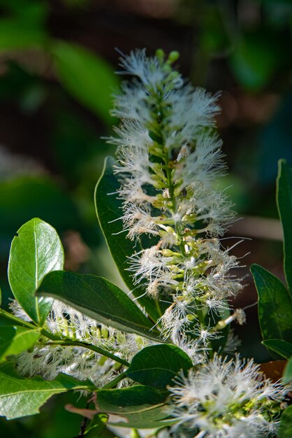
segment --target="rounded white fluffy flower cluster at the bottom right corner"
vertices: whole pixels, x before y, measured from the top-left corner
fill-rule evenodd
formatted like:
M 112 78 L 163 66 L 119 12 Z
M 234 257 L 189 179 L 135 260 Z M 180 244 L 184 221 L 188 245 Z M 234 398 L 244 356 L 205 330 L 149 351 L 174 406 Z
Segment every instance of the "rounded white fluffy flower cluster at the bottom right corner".
M 227 362 L 215 356 L 198 371 L 181 374 L 169 390 L 179 437 L 183 430 L 200 438 L 273 436 L 284 400 L 280 383 L 263 380 L 258 365 L 238 357 Z

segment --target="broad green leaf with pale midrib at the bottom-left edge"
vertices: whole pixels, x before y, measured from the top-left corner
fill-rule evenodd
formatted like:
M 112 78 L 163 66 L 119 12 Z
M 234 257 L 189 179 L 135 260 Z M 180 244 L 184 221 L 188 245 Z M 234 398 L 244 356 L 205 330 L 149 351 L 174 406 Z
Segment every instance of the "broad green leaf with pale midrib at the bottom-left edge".
M 27 379 L 17 374 L 13 364 L 0 366 L 0 416 L 8 420 L 38 414 L 39 408 L 54 394 L 69 390 L 92 390 L 88 381 L 78 381 L 66 374 L 47 381 L 41 376 Z

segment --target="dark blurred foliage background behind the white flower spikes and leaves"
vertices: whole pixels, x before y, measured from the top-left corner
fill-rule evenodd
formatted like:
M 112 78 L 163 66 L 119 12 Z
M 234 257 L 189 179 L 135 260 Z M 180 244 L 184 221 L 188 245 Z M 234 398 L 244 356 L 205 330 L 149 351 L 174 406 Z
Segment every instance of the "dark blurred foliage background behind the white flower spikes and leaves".
M 292 1 L 290 0 L 0 0 L 0 284 L 3 306 L 10 241 L 38 216 L 59 232 L 66 268 L 102 274 L 122 285 L 94 212 L 94 185 L 115 149 L 111 93 L 120 78 L 118 48 L 179 50 L 194 85 L 221 90 L 218 126 L 239 217 L 227 237 L 245 240 L 236 306 L 256 302 L 253 262 L 282 274 L 277 220 L 277 160 L 292 164 Z M 233 245 L 226 240 L 226 246 Z M 259 362 L 256 306 L 238 327 L 241 351 Z M 72 438 L 80 418 L 53 398 L 42 416 L 0 423 L 6 437 Z M 78 395 L 71 396 L 74 403 Z M 3 435 L 2 435 L 3 434 Z

